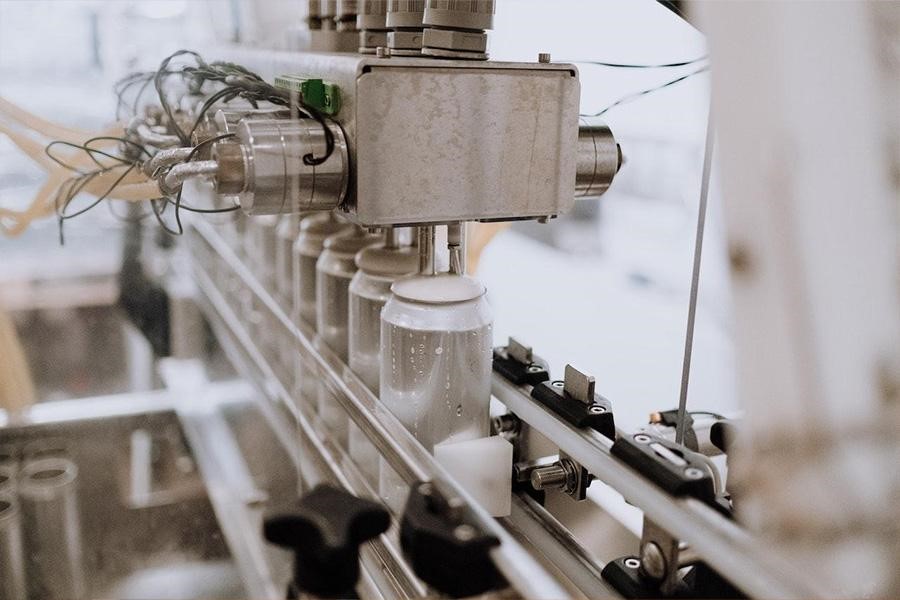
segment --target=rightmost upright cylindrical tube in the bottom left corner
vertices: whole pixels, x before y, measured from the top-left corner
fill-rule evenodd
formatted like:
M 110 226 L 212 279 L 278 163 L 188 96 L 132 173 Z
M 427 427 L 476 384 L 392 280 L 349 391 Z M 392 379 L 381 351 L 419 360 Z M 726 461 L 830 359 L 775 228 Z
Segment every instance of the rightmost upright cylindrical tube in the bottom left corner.
M 32 597 L 85 596 L 77 481 L 78 468 L 65 458 L 26 461 L 22 467 L 18 490 Z

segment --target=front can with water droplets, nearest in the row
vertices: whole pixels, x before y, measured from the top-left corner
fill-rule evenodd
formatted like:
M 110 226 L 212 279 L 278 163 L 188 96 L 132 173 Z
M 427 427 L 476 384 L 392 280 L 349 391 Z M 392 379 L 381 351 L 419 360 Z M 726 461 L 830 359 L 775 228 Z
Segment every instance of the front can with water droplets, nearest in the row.
M 441 274 L 401 279 L 391 291 L 381 313 L 381 401 L 429 452 L 487 436 L 493 321 L 484 286 Z M 397 493 L 384 477 L 380 487 Z

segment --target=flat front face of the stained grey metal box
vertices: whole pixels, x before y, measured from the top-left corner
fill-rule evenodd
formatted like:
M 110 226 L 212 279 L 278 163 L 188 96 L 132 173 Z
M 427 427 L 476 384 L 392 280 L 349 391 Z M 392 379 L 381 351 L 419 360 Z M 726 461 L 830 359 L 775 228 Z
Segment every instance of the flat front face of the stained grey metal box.
M 564 212 L 574 198 L 578 94 L 565 71 L 372 68 L 357 83 L 357 220 Z

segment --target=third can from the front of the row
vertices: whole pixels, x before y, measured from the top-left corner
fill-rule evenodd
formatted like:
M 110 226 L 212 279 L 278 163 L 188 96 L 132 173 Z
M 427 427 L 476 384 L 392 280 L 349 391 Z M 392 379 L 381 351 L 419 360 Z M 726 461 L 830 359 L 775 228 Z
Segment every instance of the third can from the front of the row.
M 332 352 L 347 362 L 350 281 L 356 273 L 356 253 L 377 244 L 380 235 L 357 228 L 325 240 L 325 249 L 316 263 L 316 331 Z M 325 385 L 319 387 L 319 416 L 327 431 L 347 444 L 347 416 Z

